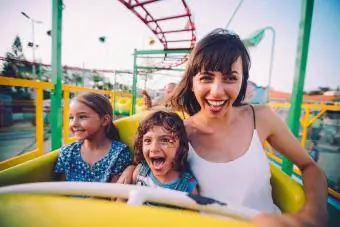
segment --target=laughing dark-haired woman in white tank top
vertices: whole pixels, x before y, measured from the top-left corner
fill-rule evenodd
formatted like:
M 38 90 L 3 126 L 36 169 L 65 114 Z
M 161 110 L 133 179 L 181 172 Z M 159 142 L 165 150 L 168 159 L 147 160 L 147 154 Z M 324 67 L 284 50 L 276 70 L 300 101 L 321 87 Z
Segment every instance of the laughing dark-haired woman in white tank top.
M 278 208 L 271 196 L 267 140 L 299 167 L 306 204 L 294 215 L 262 214 L 260 226 L 324 226 L 325 176 L 267 106 L 243 105 L 250 57 L 236 34 L 217 29 L 198 42 L 168 103 L 187 112 L 188 161 L 203 196 L 267 213 Z

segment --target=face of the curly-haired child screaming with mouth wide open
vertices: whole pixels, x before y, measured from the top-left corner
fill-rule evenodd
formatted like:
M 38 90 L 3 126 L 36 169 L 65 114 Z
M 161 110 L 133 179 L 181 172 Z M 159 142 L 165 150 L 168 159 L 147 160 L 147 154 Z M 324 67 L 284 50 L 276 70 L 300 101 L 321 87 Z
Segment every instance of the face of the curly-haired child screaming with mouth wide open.
M 156 177 L 173 173 L 179 140 L 162 126 L 154 126 L 143 136 L 143 156 Z

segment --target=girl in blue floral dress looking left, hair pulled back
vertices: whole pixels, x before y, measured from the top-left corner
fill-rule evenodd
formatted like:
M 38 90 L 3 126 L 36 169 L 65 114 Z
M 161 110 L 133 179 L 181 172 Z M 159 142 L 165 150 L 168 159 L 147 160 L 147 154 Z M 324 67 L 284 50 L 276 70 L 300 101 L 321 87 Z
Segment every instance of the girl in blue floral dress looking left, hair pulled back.
M 131 164 L 132 154 L 119 141 L 107 98 L 85 93 L 70 104 L 70 130 L 78 142 L 65 145 L 55 172 L 66 181 L 116 182 Z

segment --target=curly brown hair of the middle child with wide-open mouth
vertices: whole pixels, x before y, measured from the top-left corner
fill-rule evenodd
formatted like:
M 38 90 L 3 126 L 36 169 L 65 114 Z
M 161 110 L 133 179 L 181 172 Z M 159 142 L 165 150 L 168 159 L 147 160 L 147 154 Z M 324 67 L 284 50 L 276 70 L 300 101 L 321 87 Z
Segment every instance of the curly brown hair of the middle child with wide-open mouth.
M 179 147 L 174 158 L 173 169 L 179 172 L 186 170 L 188 167 L 187 157 L 189 140 L 185 131 L 184 123 L 176 113 L 165 111 L 157 111 L 150 114 L 139 125 L 134 147 L 136 152 L 136 163 L 145 162 L 143 155 L 143 136 L 155 126 L 163 127 L 167 131 L 173 133 L 176 139 L 179 140 Z

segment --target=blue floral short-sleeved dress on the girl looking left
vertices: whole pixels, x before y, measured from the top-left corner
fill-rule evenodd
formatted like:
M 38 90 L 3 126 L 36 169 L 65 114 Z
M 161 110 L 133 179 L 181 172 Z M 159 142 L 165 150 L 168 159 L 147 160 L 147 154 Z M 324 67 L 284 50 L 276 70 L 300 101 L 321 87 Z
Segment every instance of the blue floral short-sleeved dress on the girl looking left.
M 75 142 L 60 149 L 55 172 L 64 174 L 66 181 L 108 182 L 132 163 L 128 146 L 113 140 L 110 151 L 91 167 L 81 157 L 81 144 Z

